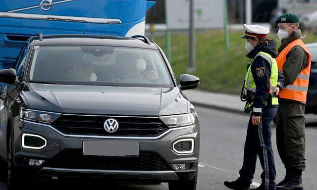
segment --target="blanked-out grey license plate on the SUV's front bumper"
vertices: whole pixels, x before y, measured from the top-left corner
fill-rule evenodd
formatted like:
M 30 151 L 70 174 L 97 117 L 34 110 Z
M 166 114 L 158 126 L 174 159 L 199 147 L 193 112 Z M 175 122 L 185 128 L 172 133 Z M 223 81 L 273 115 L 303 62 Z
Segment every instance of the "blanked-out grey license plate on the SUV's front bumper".
M 139 156 L 137 141 L 84 141 L 83 154 L 95 156 Z

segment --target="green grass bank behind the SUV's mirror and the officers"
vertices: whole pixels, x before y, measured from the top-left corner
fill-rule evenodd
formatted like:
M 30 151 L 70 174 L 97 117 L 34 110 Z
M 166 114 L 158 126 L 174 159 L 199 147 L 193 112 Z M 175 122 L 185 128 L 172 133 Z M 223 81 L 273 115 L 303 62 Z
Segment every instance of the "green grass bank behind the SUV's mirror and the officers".
M 200 89 L 239 94 L 250 62 L 245 55 L 245 40 L 241 39 L 243 31 L 230 31 L 230 50 L 225 50 L 224 35 L 221 30 L 208 30 L 197 34 L 196 71 L 190 73 L 201 79 Z M 317 42 L 317 36 L 303 34 L 305 43 Z M 269 36 L 280 45 L 276 33 Z M 155 41 L 166 52 L 165 36 L 156 37 Z M 174 74 L 177 78 L 187 72 L 188 65 L 188 35 L 172 35 L 172 62 Z

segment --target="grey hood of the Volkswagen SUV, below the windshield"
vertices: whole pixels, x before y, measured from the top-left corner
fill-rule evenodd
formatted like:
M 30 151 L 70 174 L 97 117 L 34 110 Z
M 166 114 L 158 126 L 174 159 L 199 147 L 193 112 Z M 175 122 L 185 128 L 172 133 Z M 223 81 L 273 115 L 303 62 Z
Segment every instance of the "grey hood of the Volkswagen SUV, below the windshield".
M 27 83 L 22 94 L 31 109 L 77 114 L 159 116 L 188 112 L 178 87 L 104 87 Z

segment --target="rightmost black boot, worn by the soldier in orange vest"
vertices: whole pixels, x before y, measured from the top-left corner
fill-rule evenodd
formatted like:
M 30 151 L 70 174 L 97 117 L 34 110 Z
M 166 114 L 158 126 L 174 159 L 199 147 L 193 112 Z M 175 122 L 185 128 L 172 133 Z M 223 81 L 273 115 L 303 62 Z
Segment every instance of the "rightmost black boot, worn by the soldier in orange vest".
M 303 190 L 302 170 L 293 170 L 291 180 L 282 186 L 276 186 L 276 190 Z

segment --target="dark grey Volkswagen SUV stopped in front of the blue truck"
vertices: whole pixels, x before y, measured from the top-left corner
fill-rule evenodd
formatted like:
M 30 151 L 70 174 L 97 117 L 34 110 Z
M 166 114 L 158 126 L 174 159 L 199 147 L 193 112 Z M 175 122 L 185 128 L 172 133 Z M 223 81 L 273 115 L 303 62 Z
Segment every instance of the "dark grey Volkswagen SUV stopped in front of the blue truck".
M 7 188 L 40 176 L 106 177 L 195 190 L 199 121 L 158 45 L 144 36 L 31 37 L 0 70 Z

